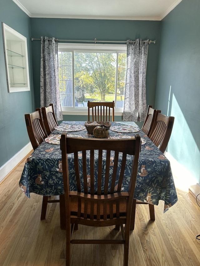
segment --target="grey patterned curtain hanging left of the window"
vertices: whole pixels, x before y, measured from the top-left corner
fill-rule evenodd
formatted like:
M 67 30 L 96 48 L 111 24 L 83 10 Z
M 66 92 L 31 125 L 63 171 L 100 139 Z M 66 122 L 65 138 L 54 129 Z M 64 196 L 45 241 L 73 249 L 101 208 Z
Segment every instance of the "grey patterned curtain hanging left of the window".
M 49 104 L 54 104 L 57 120 L 63 120 L 58 86 L 58 41 L 41 37 L 40 106 Z

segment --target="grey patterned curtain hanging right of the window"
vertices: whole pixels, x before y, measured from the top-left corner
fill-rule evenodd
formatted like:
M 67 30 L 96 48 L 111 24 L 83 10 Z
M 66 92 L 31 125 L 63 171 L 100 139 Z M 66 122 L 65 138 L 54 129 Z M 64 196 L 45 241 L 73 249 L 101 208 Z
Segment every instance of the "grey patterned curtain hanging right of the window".
M 127 74 L 124 98 L 124 121 L 144 121 L 147 113 L 146 68 L 148 41 L 127 41 Z

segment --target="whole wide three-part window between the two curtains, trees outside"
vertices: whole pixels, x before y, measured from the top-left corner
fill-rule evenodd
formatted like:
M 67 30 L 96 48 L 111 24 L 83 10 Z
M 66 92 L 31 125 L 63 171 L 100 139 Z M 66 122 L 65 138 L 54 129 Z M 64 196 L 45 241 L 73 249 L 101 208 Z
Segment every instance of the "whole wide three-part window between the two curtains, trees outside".
M 115 101 L 123 111 L 126 45 L 58 44 L 58 79 L 63 111 L 86 110 L 88 100 Z

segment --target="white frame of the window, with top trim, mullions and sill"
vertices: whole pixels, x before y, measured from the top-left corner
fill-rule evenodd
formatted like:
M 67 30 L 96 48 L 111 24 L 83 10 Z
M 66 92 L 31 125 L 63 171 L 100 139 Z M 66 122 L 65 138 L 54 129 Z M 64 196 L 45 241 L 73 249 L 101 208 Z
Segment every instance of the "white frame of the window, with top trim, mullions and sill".
M 87 43 L 58 43 L 58 52 L 70 52 L 70 51 L 80 51 L 80 52 L 117 52 L 117 53 L 126 53 L 127 45 L 126 44 L 87 44 Z M 117 54 L 118 59 L 118 54 Z M 118 64 L 118 60 L 117 60 Z M 118 67 L 118 65 L 117 65 Z M 118 75 L 118 73 L 116 73 Z M 74 68 L 73 68 L 73 77 L 74 77 Z M 116 78 L 117 80 L 117 78 Z M 115 85 L 117 86 L 117 84 Z M 74 88 L 74 80 L 73 80 Z M 74 89 L 73 89 L 74 94 Z M 73 97 L 74 98 L 74 97 Z M 117 95 L 115 95 L 117 99 Z M 115 99 L 115 103 L 116 103 Z M 62 107 L 63 114 L 74 114 L 74 115 L 88 115 L 87 107 Z M 115 108 L 115 115 L 123 115 L 123 108 Z

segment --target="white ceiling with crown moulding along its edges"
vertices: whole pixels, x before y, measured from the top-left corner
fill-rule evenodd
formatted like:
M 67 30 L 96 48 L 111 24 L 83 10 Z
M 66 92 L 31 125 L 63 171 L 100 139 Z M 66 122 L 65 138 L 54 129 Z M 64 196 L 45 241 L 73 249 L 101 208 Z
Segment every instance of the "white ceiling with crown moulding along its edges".
M 12 0 L 29 17 L 162 20 L 182 0 Z

